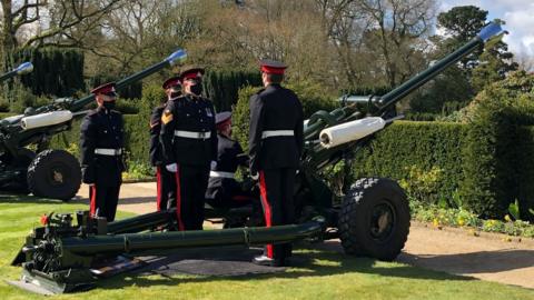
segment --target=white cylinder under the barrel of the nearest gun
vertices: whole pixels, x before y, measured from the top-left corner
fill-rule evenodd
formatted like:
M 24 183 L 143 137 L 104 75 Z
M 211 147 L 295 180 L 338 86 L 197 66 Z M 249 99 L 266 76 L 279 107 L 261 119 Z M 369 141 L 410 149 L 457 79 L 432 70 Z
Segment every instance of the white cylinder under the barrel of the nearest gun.
M 359 140 L 383 129 L 385 126 L 386 121 L 380 117 L 368 117 L 329 127 L 320 131 L 320 144 L 325 148 L 332 148 L 346 142 Z

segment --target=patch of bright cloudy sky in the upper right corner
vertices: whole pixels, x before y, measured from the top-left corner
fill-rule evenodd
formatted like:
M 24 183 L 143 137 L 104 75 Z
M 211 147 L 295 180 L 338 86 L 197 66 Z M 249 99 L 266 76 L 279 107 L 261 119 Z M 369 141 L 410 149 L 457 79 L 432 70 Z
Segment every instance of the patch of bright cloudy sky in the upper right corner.
M 487 20 L 506 22 L 510 34 L 503 39 L 508 50 L 520 58 L 534 59 L 534 0 L 442 0 L 439 11 L 457 6 L 476 6 L 488 11 Z

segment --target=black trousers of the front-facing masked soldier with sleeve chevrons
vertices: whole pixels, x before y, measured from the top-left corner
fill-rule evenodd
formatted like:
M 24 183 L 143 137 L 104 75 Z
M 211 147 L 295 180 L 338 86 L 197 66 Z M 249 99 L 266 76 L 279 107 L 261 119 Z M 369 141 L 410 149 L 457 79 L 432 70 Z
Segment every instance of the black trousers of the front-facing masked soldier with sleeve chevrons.
M 179 230 L 202 230 L 209 167 L 178 164 L 176 217 Z

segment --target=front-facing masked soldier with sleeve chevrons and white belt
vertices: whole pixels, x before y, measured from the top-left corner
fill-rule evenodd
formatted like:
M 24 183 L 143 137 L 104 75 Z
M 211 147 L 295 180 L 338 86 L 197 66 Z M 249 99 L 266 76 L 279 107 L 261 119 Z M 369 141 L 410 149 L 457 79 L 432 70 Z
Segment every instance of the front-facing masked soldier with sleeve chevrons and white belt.
M 201 230 L 210 167 L 217 162 L 215 109 L 201 97 L 204 69 L 181 72 L 184 96 L 169 101 L 161 116 L 160 141 L 168 171 L 177 183 L 179 230 Z

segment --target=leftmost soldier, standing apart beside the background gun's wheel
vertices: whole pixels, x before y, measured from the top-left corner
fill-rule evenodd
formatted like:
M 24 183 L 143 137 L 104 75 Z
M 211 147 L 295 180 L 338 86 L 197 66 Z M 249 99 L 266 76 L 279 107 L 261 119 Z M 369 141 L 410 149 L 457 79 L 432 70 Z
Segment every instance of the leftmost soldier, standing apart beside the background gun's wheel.
M 91 110 L 81 123 L 82 180 L 90 186 L 91 216 L 115 220 L 119 200 L 122 161 L 122 116 L 115 111 L 115 83 L 95 88 L 98 108 Z

